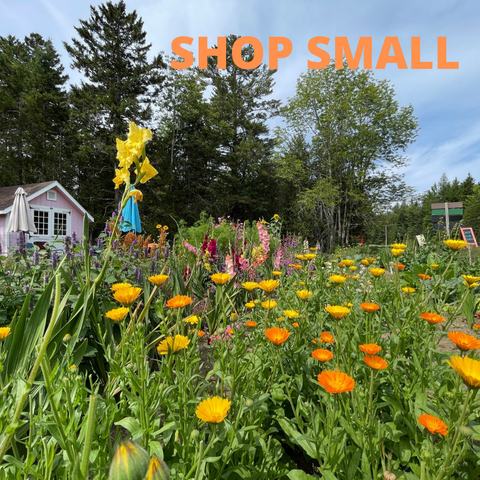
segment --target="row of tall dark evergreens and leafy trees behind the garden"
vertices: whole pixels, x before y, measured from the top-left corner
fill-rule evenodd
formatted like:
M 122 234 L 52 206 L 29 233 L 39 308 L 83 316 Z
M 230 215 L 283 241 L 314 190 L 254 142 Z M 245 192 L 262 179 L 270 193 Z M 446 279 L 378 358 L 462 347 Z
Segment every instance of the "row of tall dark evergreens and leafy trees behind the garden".
M 371 71 L 310 70 L 282 104 L 276 70 L 235 65 L 235 35 L 226 69 L 209 57 L 207 69 L 174 70 L 152 56 L 142 19 L 123 1 L 91 6 L 75 30 L 64 47 L 82 75 L 77 85 L 50 40 L 0 37 L 0 186 L 58 180 L 98 232 L 118 203 L 115 139 L 134 121 L 152 130 L 147 153 L 160 172 L 143 187 L 150 233 L 202 212 L 279 214 L 284 231 L 328 250 L 374 231 L 382 207 L 410 208 L 401 202 L 412 191 L 396 172 L 418 121 Z M 242 57 L 253 58 L 251 46 Z M 283 126 L 272 129 L 277 117 Z

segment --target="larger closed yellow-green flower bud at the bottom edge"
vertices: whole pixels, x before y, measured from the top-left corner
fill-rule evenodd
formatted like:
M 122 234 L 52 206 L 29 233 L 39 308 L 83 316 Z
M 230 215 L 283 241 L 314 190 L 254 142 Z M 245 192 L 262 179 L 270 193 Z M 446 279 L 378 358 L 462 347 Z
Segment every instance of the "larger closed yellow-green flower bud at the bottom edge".
M 131 440 L 117 446 L 108 480 L 143 480 L 149 468 L 148 453 Z

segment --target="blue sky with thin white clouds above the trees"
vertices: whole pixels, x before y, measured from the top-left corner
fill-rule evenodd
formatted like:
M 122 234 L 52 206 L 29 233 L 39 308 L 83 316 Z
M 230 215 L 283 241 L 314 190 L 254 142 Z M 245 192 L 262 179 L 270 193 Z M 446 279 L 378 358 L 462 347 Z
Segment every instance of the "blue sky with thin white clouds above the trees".
M 80 79 L 69 68 L 62 41 L 75 36 L 79 19 L 88 19 L 95 0 L 0 0 L 0 35 L 23 38 L 38 32 L 51 38 L 71 81 Z M 298 75 L 307 69 L 308 40 L 331 38 L 326 49 L 333 56 L 333 38 L 347 36 L 356 46 L 360 36 L 373 38 L 373 63 L 386 36 L 397 36 L 410 67 L 411 37 L 421 38 L 422 61 L 433 61 L 433 70 L 398 70 L 388 65 L 375 70 L 387 78 L 400 105 L 412 104 L 420 133 L 408 149 L 410 164 L 405 179 L 418 192 L 428 189 L 442 173 L 450 179 L 470 172 L 480 180 L 480 2 L 477 0 L 126 0 L 128 10 L 143 18 L 152 54 L 171 53 L 177 36 L 217 36 L 230 33 L 260 39 L 265 55 L 268 37 L 285 36 L 293 52 L 281 59 L 274 95 L 285 101 L 295 91 Z M 458 61 L 458 70 L 436 69 L 437 37 L 447 37 L 447 59 Z M 361 66 L 363 62 L 361 63 Z

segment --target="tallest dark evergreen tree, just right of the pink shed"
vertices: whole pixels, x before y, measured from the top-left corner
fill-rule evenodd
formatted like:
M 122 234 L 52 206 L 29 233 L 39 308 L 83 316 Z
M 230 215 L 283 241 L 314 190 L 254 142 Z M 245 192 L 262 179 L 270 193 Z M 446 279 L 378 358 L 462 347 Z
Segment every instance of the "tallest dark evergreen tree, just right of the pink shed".
M 78 38 L 65 48 L 72 68 L 85 81 L 71 92 L 71 131 L 78 132 L 77 196 L 102 221 L 115 208 L 115 139 L 124 138 L 128 122 L 147 125 L 152 101 L 163 81 L 160 55 L 150 62 L 143 21 L 125 2 L 90 7 L 90 18 L 75 27 Z M 155 160 L 152 160 L 155 164 Z M 115 194 L 117 196 L 115 197 Z

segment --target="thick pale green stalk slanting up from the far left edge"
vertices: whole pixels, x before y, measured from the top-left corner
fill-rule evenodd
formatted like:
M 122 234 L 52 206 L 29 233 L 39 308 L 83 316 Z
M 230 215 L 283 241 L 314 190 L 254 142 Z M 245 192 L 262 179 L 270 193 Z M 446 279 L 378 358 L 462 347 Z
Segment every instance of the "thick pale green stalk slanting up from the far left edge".
M 5 453 L 10 445 L 13 435 L 15 431 L 19 427 L 20 417 L 22 415 L 23 407 L 25 406 L 25 402 L 27 401 L 28 394 L 32 389 L 33 382 L 38 373 L 38 369 L 40 368 L 40 364 L 42 362 L 43 357 L 47 351 L 48 343 L 50 342 L 50 338 L 53 333 L 53 329 L 55 327 L 55 323 L 57 321 L 58 316 L 58 306 L 60 305 L 60 274 L 57 273 L 55 275 L 55 302 L 53 304 L 53 312 L 52 316 L 50 317 L 50 323 L 48 325 L 47 331 L 45 332 L 45 337 L 43 338 L 43 343 L 38 351 L 37 359 L 32 367 L 32 371 L 30 372 L 30 376 L 28 377 L 27 383 L 25 384 L 24 391 L 22 396 L 20 397 L 17 407 L 15 409 L 15 413 L 13 415 L 12 421 L 10 422 L 9 426 L 5 429 L 8 432 L 3 439 L 2 444 L 0 445 L 0 462 L 3 460 Z

